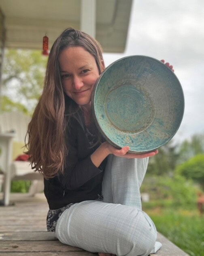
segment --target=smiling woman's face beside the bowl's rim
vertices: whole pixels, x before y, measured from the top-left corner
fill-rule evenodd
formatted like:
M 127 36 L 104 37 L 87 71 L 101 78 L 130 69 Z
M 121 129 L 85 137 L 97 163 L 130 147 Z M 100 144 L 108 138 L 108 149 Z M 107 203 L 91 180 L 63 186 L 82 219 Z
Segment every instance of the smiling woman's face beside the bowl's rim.
M 99 77 L 94 56 L 81 46 L 70 46 L 60 53 L 59 63 L 66 95 L 79 105 L 89 104 L 94 84 Z

